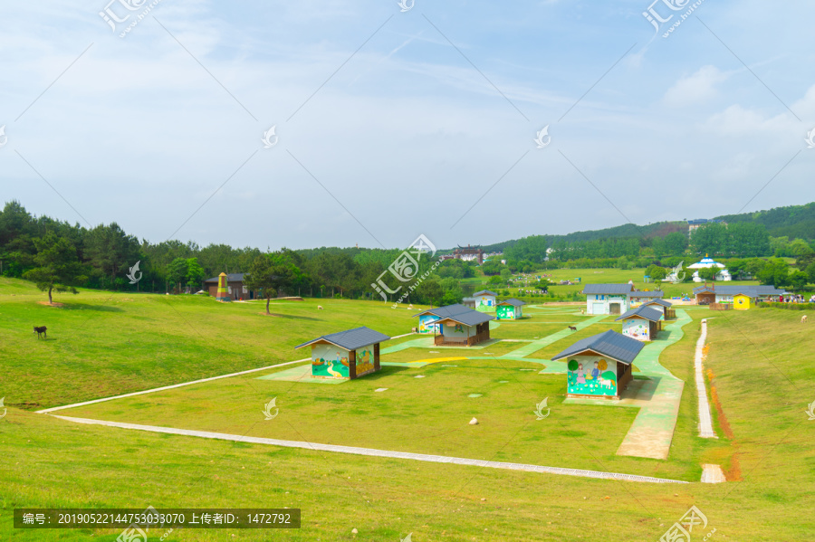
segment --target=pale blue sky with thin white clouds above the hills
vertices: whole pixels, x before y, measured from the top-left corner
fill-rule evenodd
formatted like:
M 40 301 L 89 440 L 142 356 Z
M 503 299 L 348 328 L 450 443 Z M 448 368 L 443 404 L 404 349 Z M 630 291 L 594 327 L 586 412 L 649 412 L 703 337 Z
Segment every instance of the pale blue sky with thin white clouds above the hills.
M 4 201 L 275 249 L 815 200 L 809 2 L 109 1 L 0 3 Z

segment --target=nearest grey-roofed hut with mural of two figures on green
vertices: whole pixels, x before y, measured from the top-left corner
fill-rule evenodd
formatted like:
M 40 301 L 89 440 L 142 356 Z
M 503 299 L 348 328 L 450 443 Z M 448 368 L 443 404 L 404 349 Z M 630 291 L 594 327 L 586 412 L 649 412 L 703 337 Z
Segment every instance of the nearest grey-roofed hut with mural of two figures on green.
M 566 360 L 567 397 L 619 399 L 634 377 L 634 359 L 643 347 L 609 329 L 577 341 L 551 360 Z

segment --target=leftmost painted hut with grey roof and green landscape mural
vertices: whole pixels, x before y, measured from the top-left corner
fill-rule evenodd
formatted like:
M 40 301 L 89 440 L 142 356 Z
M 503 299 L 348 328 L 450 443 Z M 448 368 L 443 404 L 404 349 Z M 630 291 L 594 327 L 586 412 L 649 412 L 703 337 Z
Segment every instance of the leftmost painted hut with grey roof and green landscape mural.
M 323 335 L 294 347 L 312 347 L 312 376 L 359 378 L 379 371 L 379 343 L 389 337 L 370 328 Z

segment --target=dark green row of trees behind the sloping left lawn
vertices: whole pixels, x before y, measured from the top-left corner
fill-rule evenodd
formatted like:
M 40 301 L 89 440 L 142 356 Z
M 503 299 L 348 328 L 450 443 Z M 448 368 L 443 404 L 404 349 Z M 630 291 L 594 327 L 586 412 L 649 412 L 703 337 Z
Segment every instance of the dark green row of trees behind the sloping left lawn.
M 402 253 L 398 249 L 326 247 L 262 252 L 226 244 L 156 243 L 139 241 L 117 223 L 85 228 L 48 216 L 36 217 L 16 201 L 6 203 L 0 212 L 0 275 L 34 281 L 49 293 L 49 300 L 53 291 L 75 292 L 76 288 L 194 293 L 206 279 L 227 272 L 249 273 L 246 280 L 263 282 L 259 289 L 275 296 L 382 300 L 371 284 L 383 281 L 388 290 L 397 292 L 388 294 L 391 301 L 408 290 L 408 284 L 388 272 Z M 418 276 L 431 262 L 426 256 L 417 264 Z M 463 294 L 457 280 L 474 274 L 463 269 L 461 262 L 445 262 L 415 285 L 406 299 L 435 304 L 460 301 Z

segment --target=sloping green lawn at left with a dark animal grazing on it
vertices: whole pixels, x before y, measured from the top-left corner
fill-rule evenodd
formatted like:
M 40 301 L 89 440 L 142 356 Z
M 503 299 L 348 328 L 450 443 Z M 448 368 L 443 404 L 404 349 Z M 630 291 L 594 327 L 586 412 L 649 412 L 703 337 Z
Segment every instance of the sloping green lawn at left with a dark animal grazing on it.
M 309 357 L 294 347 L 367 325 L 391 336 L 417 325 L 408 309 L 346 300 L 217 303 L 209 297 L 82 291 L 55 296 L 0 278 L 5 404 L 28 409 L 129 393 Z M 317 305 L 324 310 L 318 310 Z M 38 340 L 34 326 L 47 326 Z

